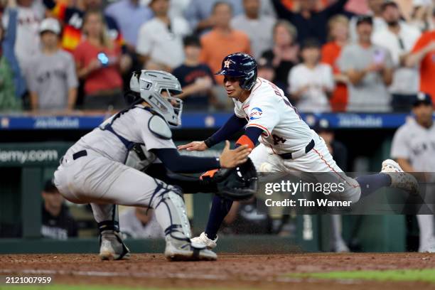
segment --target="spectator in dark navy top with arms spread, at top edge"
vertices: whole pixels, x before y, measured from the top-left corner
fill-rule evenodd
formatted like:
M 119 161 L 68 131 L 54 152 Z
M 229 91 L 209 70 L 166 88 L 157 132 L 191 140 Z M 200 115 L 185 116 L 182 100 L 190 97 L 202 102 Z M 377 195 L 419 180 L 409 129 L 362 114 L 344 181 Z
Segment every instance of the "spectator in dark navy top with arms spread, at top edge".
M 326 27 L 329 18 L 335 14 L 343 13 L 348 0 L 338 0 L 321 11 L 316 10 L 316 0 L 300 1 L 300 11 L 293 12 L 284 6 L 285 0 L 272 0 L 276 14 L 296 26 L 298 42 L 302 43 L 306 38 L 317 38 L 321 43 L 326 43 Z

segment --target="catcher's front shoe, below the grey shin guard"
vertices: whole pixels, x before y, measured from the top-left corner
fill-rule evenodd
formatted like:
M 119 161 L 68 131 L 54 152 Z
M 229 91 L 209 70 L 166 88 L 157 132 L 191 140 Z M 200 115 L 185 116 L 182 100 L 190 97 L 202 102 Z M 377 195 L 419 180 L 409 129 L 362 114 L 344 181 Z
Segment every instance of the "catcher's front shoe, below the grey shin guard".
M 204 245 L 166 236 L 165 257 L 169 261 L 215 261 L 218 255 Z

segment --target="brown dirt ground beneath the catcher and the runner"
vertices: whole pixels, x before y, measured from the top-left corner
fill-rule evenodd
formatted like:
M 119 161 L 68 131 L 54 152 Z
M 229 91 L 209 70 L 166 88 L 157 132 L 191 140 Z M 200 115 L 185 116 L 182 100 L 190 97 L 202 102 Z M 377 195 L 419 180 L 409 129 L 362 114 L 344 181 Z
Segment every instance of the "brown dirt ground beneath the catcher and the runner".
M 0 261 L 0 275 L 50 275 L 55 284 L 185 289 L 435 289 L 435 284 L 425 282 L 326 281 L 287 275 L 435 269 L 435 254 L 220 254 L 217 262 L 167 262 L 161 254 L 133 254 L 129 261 L 106 262 L 93 254 L 11 254 L 0 255 Z

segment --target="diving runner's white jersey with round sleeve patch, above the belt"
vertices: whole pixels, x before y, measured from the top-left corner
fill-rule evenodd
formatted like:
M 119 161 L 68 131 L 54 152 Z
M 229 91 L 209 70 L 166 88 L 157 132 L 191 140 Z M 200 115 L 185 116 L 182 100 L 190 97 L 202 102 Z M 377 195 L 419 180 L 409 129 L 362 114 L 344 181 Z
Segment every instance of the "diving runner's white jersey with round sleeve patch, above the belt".
M 247 127 L 263 129 L 259 142 L 269 146 L 275 154 L 303 149 L 316 136 L 284 92 L 262 77 L 257 78 L 245 102 L 232 100 L 237 117 L 247 119 Z

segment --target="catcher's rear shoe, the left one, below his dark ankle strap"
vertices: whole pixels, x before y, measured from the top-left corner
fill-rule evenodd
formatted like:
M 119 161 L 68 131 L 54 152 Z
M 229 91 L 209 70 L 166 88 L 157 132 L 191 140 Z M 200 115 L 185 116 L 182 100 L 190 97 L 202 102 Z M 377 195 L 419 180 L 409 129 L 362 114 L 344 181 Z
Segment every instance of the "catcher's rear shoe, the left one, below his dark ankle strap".
M 106 230 L 100 235 L 99 256 L 102 260 L 129 259 L 130 250 L 124 245 L 118 232 Z

